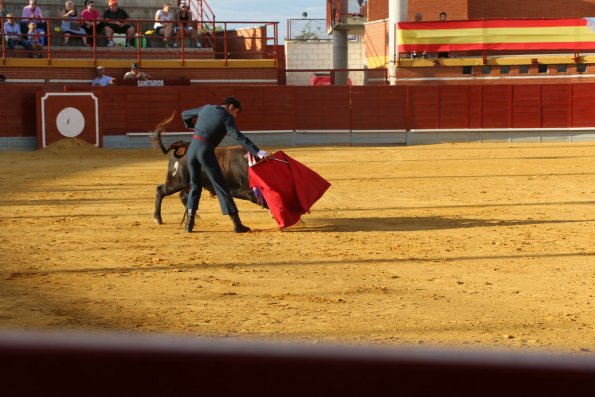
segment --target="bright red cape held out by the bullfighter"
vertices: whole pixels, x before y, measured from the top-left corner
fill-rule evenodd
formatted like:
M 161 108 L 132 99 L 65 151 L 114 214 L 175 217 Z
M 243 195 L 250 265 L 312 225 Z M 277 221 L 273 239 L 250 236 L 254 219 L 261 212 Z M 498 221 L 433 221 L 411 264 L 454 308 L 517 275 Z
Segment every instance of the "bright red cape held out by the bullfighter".
M 275 160 L 260 161 L 248 169 L 250 187 L 259 188 L 279 229 L 293 226 L 310 212 L 331 184 L 283 151 Z

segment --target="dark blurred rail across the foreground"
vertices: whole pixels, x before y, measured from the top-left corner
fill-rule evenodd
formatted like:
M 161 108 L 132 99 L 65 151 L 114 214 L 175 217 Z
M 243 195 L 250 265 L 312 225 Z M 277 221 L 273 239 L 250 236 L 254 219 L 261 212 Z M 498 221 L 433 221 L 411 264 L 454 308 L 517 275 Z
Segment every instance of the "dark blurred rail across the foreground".
M 592 395 L 591 357 L 250 343 L 173 336 L 0 334 L 3 396 Z

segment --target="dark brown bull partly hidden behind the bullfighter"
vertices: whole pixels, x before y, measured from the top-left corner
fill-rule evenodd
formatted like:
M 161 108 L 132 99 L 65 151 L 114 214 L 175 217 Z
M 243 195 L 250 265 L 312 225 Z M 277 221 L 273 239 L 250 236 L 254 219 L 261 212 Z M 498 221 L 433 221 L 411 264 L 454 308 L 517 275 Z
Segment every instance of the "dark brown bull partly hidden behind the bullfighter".
M 180 200 L 186 206 L 186 199 L 190 192 L 190 173 L 188 172 L 188 159 L 185 156 L 190 143 L 177 141 L 166 148 L 161 140 L 161 132 L 164 126 L 171 120 L 172 118 L 170 117 L 168 120 L 159 124 L 151 136 L 153 144 L 158 145 L 163 154 L 167 154 L 173 150 L 173 153 L 169 157 L 165 183 L 157 185 L 156 189 L 155 213 L 153 217 L 158 224 L 163 223 L 161 219 L 161 202 L 163 198 L 180 192 Z M 246 158 L 246 153 L 246 150 L 241 146 L 218 147 L 215 149 L 215 156 L 217 156 L 217 161 L 223 171 L 229 193 L 234 198 L 248 200 L 260 205 L 248 184 L 248 159 Z M 200 183 L 211 196 L 215 196 L 213 185 L 204 170 L 200 175 Z M 267 208 L 266 203 L 264 203 L 264 207 Z

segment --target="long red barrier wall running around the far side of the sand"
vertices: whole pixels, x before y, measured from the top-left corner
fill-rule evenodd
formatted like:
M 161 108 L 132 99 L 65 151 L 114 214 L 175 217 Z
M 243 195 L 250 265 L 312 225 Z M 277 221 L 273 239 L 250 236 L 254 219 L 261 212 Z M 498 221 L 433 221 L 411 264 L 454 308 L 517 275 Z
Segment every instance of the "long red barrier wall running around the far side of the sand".
M 0 137 L 36 136 L 35 93 L 4 85 Z M 70 88 L 90 91 L 89 88 Z M 143 132 L 172 112 L 242 100 L 242 130 L 405 130 L 595 127 L 595 84 L 470 86 L 199 86 L 97 88 L 103 135 Z M 167 128 L 184 131 L 176 117 Z

